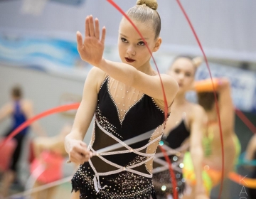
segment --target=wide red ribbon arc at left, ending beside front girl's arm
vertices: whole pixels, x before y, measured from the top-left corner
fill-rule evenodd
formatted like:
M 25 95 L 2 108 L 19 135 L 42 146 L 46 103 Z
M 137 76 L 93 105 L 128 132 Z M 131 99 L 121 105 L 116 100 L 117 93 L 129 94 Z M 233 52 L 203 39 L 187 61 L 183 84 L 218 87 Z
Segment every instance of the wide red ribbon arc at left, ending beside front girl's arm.
M 16 136 L 16 134 L 18 134 L 20 131 L 22 131 L 23 129 L 28 127 L 30 124 L 32 124 L 36 120 L 41 119 L 42 117 L 46 117 L 49 114 L 65 112 L 65 111 L 72 110 L 72 109 L 78 109 L 78 107 L 79 107 L 79 103 L 66 104 L 66 105 L 63 105 L 60 107 L 55 107 L 53 109 L 49 109 L 46 112 L 42 112 L 41 114 L 36 115 L 35 117 L 31 117 L 31 119 L 28 119 L 28 120 L 26 120 L 26 122 L 23 122 L 23 124 L 18 126 L 16 129 L 14 129 L 14 131 L 11 132 L 11 134 L 9 136 L 7 136 L 5 141 L 3 141 L 3 143 L 0 145 L 0 150 L 4 146 L 4 144 L 6 144 L 7 141 L 11 140 L 14 136 Z

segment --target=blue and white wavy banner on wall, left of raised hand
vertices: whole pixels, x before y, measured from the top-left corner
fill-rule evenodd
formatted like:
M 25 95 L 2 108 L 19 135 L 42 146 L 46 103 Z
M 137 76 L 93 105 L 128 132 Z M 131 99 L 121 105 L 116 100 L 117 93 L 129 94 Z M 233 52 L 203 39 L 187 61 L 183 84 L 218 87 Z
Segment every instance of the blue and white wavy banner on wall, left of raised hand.
M 91 68 L 80 59 L 75 41 L 48 37 L 0 36 L 0 63 L 82 80 Z

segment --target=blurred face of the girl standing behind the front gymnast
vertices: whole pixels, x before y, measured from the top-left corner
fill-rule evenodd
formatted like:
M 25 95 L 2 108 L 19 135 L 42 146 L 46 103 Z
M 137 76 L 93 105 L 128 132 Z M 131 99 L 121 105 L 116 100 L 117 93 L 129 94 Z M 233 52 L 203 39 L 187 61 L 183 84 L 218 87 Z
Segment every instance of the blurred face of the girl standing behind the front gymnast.
M 195 77 L 195 67 L 188 58 L 178 58 L 174 61 L 173 65 L 171 65 L 169 75 L 174 77 L 174 79 L 178 82 L 178 92 L 186 92 L 190 89 L 193 83 Z

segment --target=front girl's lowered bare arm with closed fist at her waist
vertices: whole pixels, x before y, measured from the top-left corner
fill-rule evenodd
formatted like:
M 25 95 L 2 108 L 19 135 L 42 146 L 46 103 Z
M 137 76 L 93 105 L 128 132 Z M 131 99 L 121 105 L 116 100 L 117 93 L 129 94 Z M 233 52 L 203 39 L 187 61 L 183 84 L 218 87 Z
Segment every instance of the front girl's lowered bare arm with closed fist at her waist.
M 65 150 L 68 152 L 70 161 L 82 164 L 88 161 L 91 154 L 83 142 L 85 134 L 97 106 L 97 92 L 105 77 L 105 73 L 97 68 L 92 68 L 85 80 L 85 87 L 82 95 L 82 102 L 75 115 L 73 128 L 65 137 Z

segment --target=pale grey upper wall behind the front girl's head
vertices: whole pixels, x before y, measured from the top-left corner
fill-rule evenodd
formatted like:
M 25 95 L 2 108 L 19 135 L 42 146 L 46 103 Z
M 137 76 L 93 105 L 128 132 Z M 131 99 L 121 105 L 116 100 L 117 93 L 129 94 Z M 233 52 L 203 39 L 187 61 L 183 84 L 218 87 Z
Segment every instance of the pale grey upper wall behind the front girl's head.
M 0 31 L 38 33 L 75 40 L 76 31 L 84 31 L 85 17 L 92 14 L 107 28 L 107 43 L 117 43 L 121 14 L 105 0 L 47 1 L 41 14 L 24 14 L 25 1 L 0 1 Z M 44 1 L 44 0 L 38 0 Z M 63 3 L 61 3 L 63 2 Z M 124 11 L 135 0 L 115 0 Z M 162 20 L 162 50 L 171 53 L 201 55 L 195 38 L 175 0 L 159 0 Z M 65 4 L 64 4 L 65 3 Z M 206 54 L 212 58 L 256 60 L 256 1 L 183 0 Z

